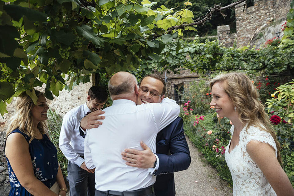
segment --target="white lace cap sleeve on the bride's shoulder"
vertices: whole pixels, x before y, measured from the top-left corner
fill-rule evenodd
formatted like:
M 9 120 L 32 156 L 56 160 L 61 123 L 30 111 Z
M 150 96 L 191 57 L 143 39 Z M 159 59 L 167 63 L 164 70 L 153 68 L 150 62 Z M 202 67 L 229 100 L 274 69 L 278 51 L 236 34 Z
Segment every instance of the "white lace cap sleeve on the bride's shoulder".
M 275 149 L 275 153 L 276 153 L 276 157 L 277 157 L 276 142 L 274 141 L 272 135 L 269 132 L 266 132 L 264 130 L 259 130 L 256 127 L 254 127 L 254 128 L 250 127 L 248 129 L 248 136 L 246 139 L 246 144 L 245 144 L 246 147 L 245 148 L 247 148 L 247 144 L 251 140 L 256 140 L 256 141 L 270 145 L 271 147 L 273 147 L 273 149 Z M 247 151 L 247 149 L 246 149 L 246 151 Z

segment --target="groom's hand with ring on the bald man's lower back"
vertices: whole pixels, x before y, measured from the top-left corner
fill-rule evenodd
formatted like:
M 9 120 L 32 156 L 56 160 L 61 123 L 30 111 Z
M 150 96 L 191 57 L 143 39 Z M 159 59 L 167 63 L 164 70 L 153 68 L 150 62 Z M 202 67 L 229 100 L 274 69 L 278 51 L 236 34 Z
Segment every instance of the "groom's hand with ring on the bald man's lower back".
M 137 168 L 153 168 L 156 156 L 153 154 L 151 149 L 141 141 L 141 146 L 144 150 L 136 149 L 125 149 L 121 153 L 123 160 L 126 160 L 126 164 Z

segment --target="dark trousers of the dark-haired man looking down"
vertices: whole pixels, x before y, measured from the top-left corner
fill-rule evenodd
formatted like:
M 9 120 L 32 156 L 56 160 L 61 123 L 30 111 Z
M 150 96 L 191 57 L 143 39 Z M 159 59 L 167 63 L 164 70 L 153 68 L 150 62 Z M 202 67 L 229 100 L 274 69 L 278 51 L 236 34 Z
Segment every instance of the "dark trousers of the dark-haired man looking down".
M 70 183 L 70 196 L 95 195 L 95 174 L 89 173 L 70 161 L 68 162 L 67 173 Z

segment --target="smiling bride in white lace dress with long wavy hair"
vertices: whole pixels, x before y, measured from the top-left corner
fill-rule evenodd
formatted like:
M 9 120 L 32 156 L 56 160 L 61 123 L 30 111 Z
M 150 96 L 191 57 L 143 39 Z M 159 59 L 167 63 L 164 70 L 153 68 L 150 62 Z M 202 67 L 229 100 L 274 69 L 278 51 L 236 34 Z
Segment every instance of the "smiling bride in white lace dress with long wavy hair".
M 233 123 L 232 138 L 225 151 L 233 195 L 294 195 L 280 165 L 277 136 L 249 77 L 242 73 L 223 74 L 211 81 L 210 88 L 210 105 L 220 117 Z

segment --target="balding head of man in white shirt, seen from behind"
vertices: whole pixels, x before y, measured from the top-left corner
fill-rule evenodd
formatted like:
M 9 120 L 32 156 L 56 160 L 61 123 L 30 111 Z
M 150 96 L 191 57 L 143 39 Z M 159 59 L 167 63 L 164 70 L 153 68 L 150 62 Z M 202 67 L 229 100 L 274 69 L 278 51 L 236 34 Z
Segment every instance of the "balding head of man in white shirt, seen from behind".
M 128 96 L 134 93 L 137 79 L 133 74 L 120 71 L 114 74 L 108 82 L 108 90 L 111 98 L 113 96 Z

